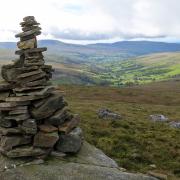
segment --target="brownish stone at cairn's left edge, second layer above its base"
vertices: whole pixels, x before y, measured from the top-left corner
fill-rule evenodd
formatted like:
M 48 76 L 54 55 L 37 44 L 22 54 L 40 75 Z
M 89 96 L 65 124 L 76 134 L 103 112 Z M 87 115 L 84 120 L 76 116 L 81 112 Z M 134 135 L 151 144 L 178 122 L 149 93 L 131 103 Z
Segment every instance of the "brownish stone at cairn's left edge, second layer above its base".
M 15 146 L 29 144 L 31 141 L 30 136 L 2 136 L 1 148 L 4 151 L 9 151 Z

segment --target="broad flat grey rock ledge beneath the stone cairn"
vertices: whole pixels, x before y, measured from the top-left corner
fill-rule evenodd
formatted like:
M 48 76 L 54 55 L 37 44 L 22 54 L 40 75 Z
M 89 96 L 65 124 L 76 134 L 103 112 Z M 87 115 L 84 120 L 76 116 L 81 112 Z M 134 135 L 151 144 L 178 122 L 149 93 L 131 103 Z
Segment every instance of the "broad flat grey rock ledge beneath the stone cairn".
M 121 172 L 116 162 L 101 150 L 84 142 L 75 156 L 49 157 L 43 164 L 0 156 L 1 180 L 156 180 Z

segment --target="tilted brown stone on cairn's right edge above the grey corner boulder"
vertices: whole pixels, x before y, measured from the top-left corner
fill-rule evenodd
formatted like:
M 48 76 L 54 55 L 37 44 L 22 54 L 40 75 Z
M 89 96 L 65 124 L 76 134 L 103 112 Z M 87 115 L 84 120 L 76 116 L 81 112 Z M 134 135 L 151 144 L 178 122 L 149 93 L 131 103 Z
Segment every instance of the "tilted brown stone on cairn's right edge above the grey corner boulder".
M 70 121 L 65 122 L 59 126 L 59 132 L 68 134 L 73 128 L 75 128 L 80 122 L 78 115 L 75 115 Z

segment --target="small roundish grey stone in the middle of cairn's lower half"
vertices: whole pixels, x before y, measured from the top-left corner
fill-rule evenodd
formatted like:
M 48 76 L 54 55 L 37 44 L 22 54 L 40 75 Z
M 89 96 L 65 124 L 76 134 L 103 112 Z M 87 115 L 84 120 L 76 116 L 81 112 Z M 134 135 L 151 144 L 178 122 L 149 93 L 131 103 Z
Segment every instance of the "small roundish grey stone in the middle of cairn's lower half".
M 35 119 L 27 119 L 23 121 L 22 125 L 20 126 L 22 131 L 26 134 L 36 134 L 37 133 L 37 123 Z

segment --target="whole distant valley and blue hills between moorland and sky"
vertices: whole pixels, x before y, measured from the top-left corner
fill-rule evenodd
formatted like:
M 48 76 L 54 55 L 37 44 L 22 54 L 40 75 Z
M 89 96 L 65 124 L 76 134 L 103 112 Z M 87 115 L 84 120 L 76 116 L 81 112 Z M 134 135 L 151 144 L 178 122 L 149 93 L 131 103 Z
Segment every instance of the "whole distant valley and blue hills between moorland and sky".
M 180 76 L 178 43 L 123 41 L 75 45 L 41 40 L 39 46 L 48 47 L 45 58 L 56 69 L 56 83 L 124 86 Z M 17 58 L 15 48 L 14 42 L 0 43 L 0 64 Z

